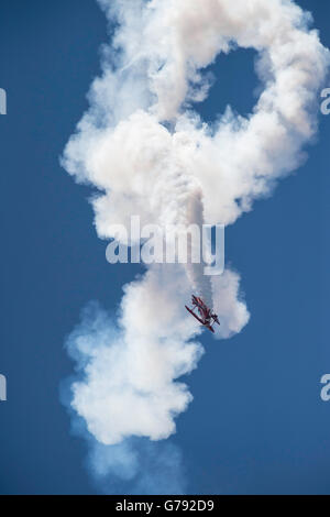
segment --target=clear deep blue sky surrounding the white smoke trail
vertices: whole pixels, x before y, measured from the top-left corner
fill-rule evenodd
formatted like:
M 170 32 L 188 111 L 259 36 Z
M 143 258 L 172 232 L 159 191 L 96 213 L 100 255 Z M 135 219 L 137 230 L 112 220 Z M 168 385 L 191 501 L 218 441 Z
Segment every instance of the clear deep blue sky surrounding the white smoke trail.
M 330 47 L 330 6 L 300 0 Z M 2 2 L 0 493 L 94 494 L 86 443 L 70 433 L 59 383 L 73 372 L 63 348 L 90 299 L 116 307 L 139 271 L 110 266 L 92 226 L 91 190 L 59 155 L 87 108 L 107 22 L 94 0 Z M 255 102 L 254 54 L 213 66 L 206 119 Z M 330 79 L 329 79 L 330 80 Z M 330 84 L 329 84 L 330 86 Z M 216 342 L 186 381 L 195 397 L 172 439 L 190 493 L 330 493 L 328 241 L 330 117 L 320 117 L 308 162 L 227 229 L 227 261 L 242 276 L 248 327 Z M 123 485 L 124 492 L 124 485 Z

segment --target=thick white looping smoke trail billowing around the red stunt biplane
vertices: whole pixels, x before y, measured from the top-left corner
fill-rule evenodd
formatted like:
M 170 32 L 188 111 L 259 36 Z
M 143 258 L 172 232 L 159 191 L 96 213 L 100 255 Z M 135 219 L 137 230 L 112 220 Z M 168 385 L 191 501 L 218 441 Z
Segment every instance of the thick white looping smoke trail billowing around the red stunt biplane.
M 101 193 L 92 201 L 100 238 L 113 238 L 113 224 L 129 228 L 132 215 L 162 228 L 231 224 L 299 166 L 317 130 L 316 98 L 329 56 L 308 28 L 310 16 L 293 1 L 99 3 L 117 29 L 63 163 Z M 238 46 L 257 51 L 264 89 L 248 118 L 228 108 L 209 125 L 193 109 L 210 87 L 204 69 Z M 155 442 L 175 432 L 175 417 L 193 398 L 178 380 L 202 354 L 200 329 L 184 309 L 193 288 L 212 299 L 219 338 L 246 324 L 239 275 L 227 270 L 210 282 L 201 272 L 153 265 L 124 287 L 116 318 L 94 306 L 69 337 L 80 373 L 70 405 L 94 437 L 95 472 L 131 480 L 140 464 L 132 440 Z M 151 490 L 147 483 L 143 490 Z

